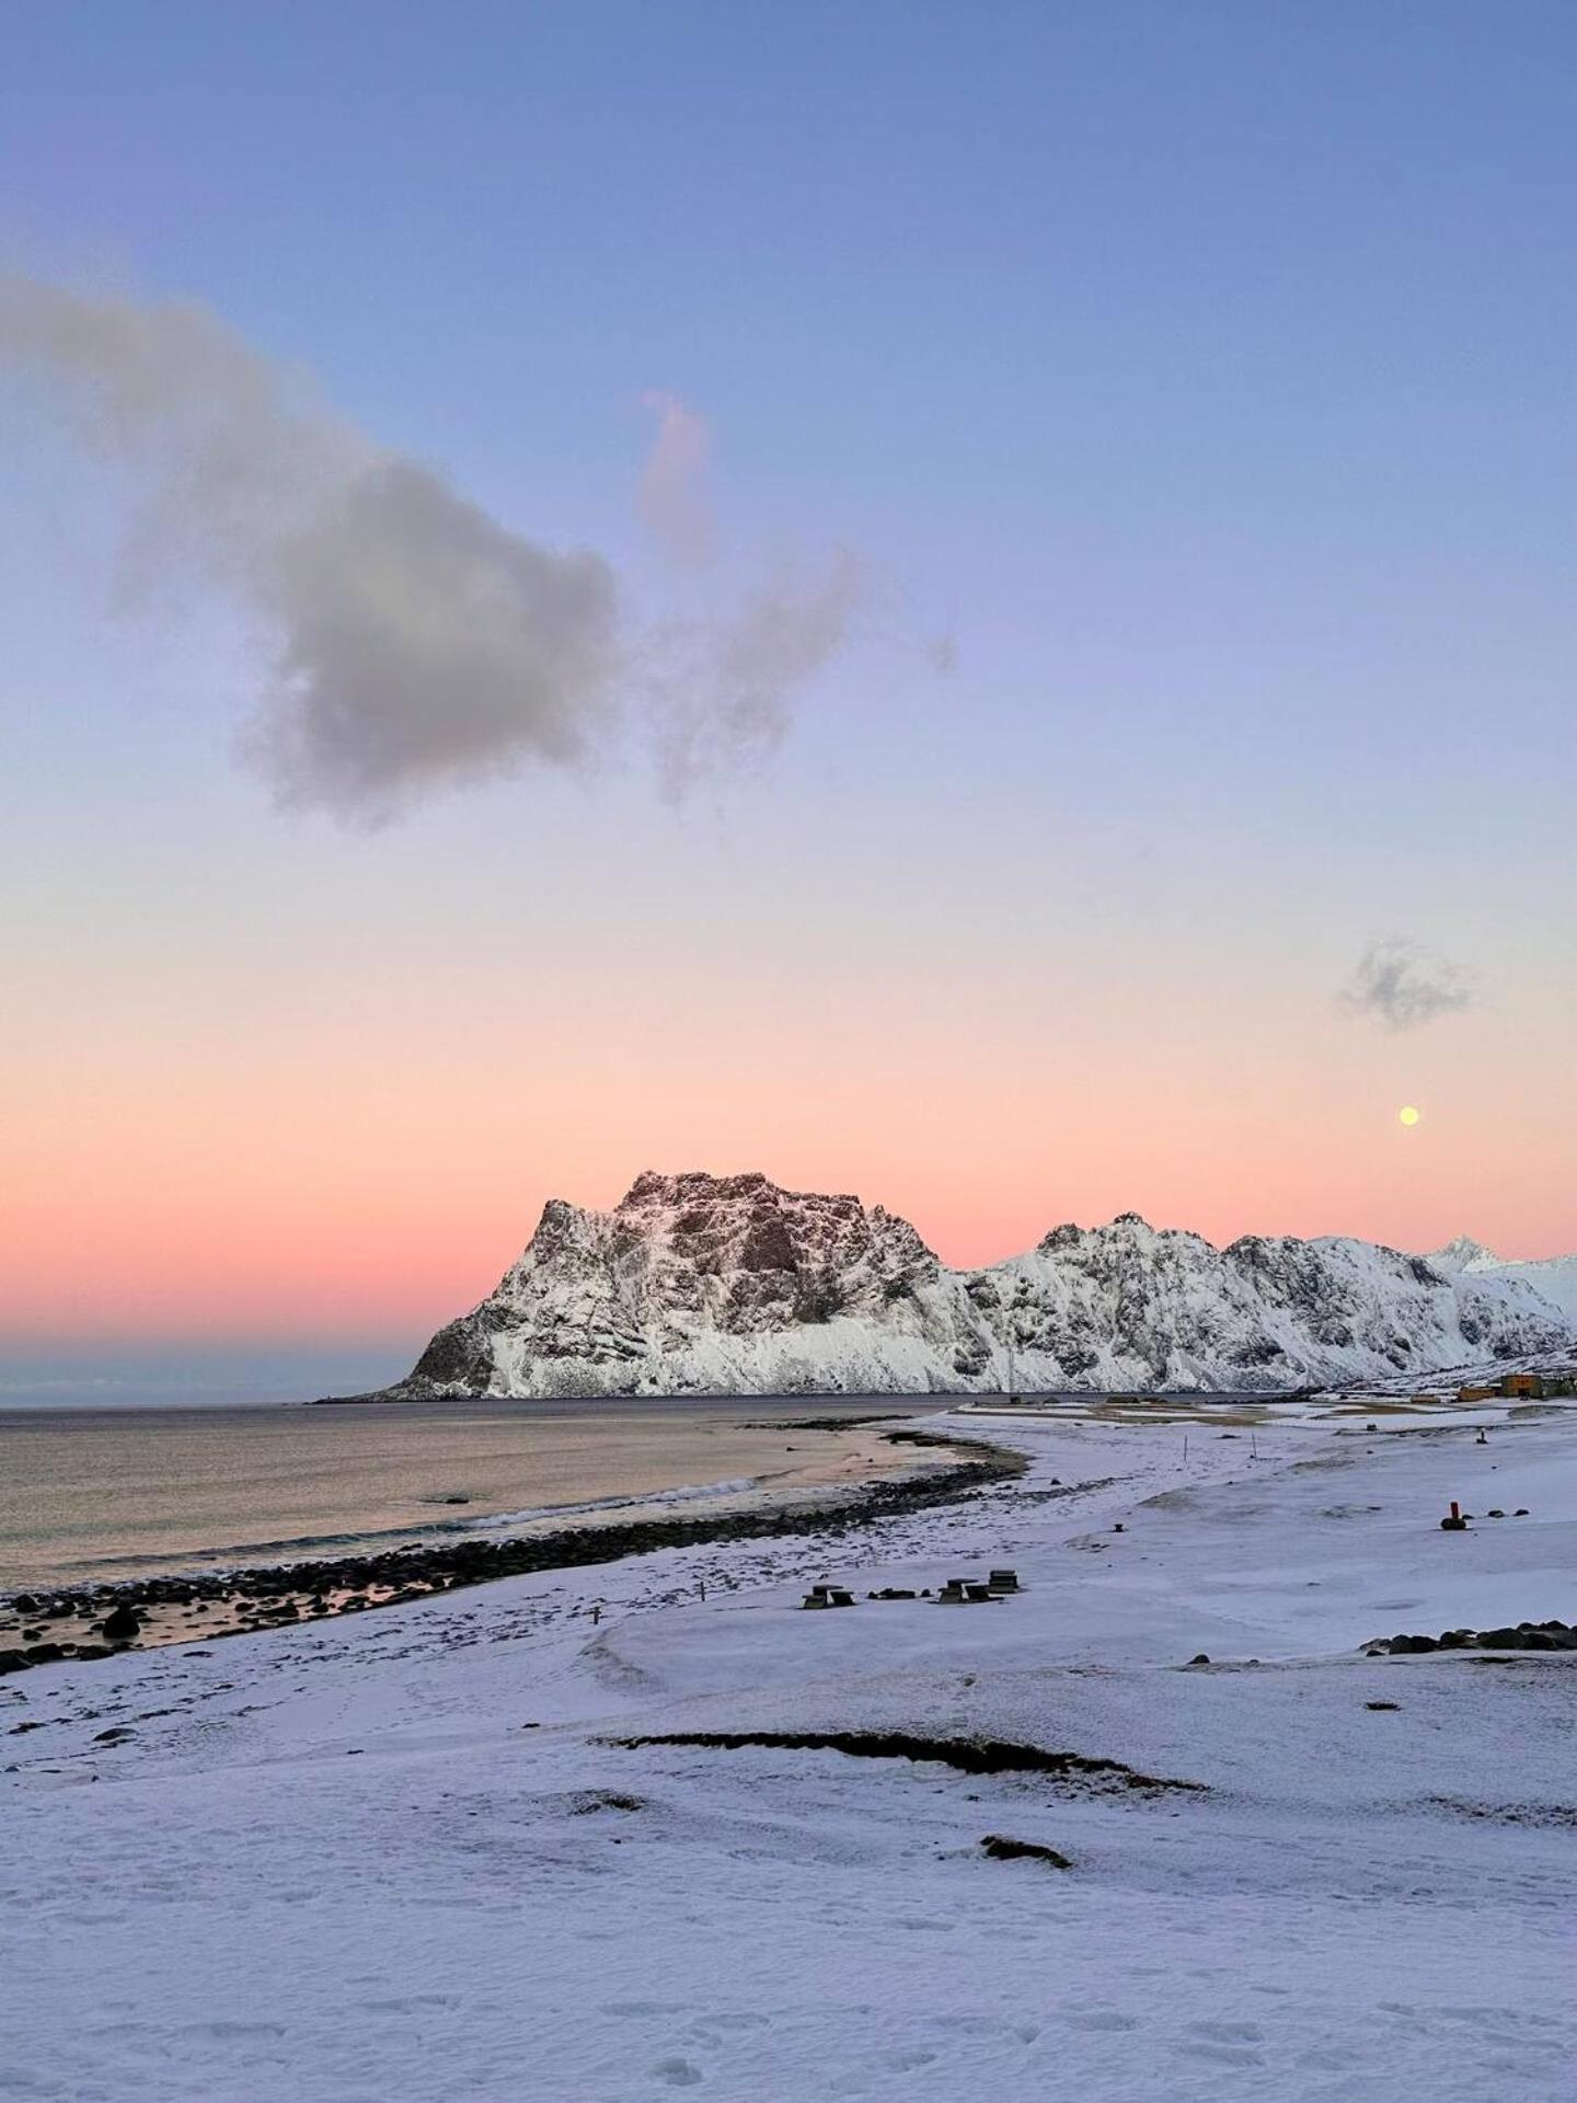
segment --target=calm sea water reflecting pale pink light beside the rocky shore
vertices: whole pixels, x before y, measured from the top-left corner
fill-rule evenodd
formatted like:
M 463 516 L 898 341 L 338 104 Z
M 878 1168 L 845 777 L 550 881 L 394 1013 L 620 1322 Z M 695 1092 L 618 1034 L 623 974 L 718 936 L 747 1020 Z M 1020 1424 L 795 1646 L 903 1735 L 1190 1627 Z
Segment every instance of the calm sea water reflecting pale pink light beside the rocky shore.
M 795 1417 L 923 1398 L 0 1411 L 0 1588 L 442 1537 L 498 1514 L 780 1478 Z M 446 1499 L 465 1497 L 465 1504 Z

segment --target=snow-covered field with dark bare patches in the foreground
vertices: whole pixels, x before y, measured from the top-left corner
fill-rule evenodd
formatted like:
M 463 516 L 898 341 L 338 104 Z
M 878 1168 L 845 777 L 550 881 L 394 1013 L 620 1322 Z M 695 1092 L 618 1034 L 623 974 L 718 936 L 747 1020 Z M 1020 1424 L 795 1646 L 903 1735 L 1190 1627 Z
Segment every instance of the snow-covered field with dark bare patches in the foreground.
M 976 1432 L 1030 1472 L 841 1544 L 0 1687 L 0 2095 L 1571 2097 L 1577 1653 L 1356 1645 L 1577 1619 L 1577 1411 L 1484 1447 L 1287 1424 L 1257 1459 L 1199 1424 L 1186 1462 L 1180 1426 Z M 1529 1516 L 1440 1533 L 1449 1497 Z M 1028 1590 L 797 1611 L 992 1563 Z M 784 1731 L 1205 1788 L 616 1743 Z

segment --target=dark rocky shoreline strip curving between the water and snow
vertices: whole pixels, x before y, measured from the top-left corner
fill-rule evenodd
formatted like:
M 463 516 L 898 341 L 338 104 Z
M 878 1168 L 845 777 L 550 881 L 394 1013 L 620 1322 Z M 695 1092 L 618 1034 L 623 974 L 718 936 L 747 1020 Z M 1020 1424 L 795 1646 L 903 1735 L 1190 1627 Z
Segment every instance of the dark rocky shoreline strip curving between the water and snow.
M 786 1502 L 732 1512 L 570 1525 L 503 1539 L 467 1535 L 406 1541 L 372 1554 L 34 1588 L 0 1602 L 0 1613 L 17 1621 L 15 1630 L 0 1628 L 0 1674 L 208 1642 L 263 1628 L 296 1628 L 402 1607 L 500 1577 L 622 1563 L 662 1548 L 770 1539 L 807 1529 L 849 1533 L 898 1512 L 963 1499 L 1028 1468 L 1026 1455 L 984 1438 L 898 1430 L 885 1432 L 883 1443 L 942 1449 L 959 1457 L 948 1466 L 917 1468 L 894 1478 L 828 1483 Z

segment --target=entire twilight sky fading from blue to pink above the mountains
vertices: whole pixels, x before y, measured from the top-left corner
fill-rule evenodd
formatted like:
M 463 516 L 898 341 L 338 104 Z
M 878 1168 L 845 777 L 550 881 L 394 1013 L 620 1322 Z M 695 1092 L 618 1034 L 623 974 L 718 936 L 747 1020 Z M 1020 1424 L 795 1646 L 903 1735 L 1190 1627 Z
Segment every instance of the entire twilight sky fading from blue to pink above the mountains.
M 0 1398 L 646 1167 L 1577 1249 L 1571 8 L 0 34 Z

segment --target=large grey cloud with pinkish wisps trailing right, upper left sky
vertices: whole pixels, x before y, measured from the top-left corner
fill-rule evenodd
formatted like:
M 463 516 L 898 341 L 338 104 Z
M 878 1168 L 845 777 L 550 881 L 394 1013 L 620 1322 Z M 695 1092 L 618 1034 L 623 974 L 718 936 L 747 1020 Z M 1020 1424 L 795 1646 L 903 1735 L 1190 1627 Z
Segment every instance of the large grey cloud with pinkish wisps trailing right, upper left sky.
M 221 580 L 265 637 L 242 736 L 280 801 L 381 822 L 433 789 L 612 749 L 620 698 L 658 715 L 669 782 L 770 749 L 841 648 L 854 572 L 761 591 L 711 625 L 620 635 L 593 551 L 515 534 L 439 473 L 332 416 L 196 305 L 0 280 L 0 366 L 40 372 L 130 501 L 139 591 Z M 706 427 L 673 397 L 643 492 L 654 530 L 711 532 Z

